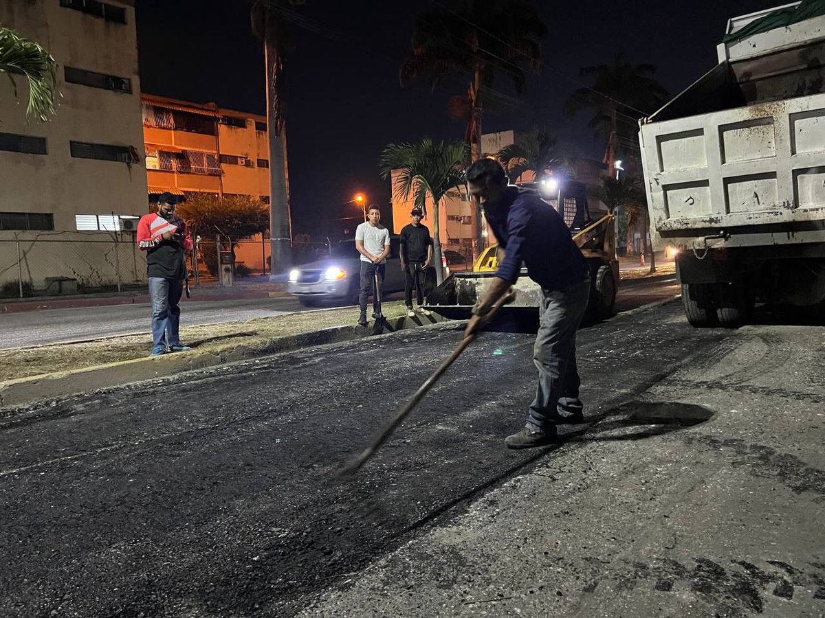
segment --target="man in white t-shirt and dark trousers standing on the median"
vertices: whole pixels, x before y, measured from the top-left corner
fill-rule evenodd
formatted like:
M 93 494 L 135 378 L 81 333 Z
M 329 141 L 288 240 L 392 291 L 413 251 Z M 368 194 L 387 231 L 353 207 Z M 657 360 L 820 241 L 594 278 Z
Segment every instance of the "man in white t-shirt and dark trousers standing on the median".
M 366 299 L 372 294 L 372 316 L 381 317 L 381 289 L 384 287 L 384 270 L 389 255 L 389 230 L 379 224 L 381 211 L 373 204 L 367 212 L 367 220 L 356 228 L 356 249 L 361 254 L 361 292 L 358 304 L 361 316 L 358 325 L 366 325 Z M 377 288 L 375 288 L 377 284 Z

